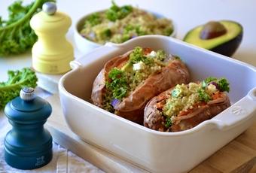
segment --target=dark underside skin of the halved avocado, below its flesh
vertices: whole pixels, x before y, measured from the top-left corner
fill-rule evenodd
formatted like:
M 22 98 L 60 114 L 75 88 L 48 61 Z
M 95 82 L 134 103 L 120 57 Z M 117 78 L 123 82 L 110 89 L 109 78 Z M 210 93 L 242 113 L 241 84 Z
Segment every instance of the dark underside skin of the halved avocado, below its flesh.
M 232 56 L 233 53 L 236 52 L 237 48 L 239 47 L 242 41 L 242 32 L 233 38 L 230 41 L 227 41 L 224 44 L 218 45 L 217 47 L 212 48 L 211 50 L 215 53 L 220 53 L 224 56 Z

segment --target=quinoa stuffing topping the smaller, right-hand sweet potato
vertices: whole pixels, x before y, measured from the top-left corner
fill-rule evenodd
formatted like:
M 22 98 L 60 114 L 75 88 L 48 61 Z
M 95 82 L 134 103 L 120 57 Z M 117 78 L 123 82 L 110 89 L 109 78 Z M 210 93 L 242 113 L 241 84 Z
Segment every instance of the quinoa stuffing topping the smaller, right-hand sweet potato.
M 200 83 L 178 84 L 169 93 L 169 99 L 160 102 L 158 106 L 166 117 L 165 126 L 171 126 L 175 117 L 186 115 L 194 108 L 200 108 L 207 102 L 218 99 L 221 96 L 220 92 L 229 90 L 229 83 L 225 78 L 208 77 Z

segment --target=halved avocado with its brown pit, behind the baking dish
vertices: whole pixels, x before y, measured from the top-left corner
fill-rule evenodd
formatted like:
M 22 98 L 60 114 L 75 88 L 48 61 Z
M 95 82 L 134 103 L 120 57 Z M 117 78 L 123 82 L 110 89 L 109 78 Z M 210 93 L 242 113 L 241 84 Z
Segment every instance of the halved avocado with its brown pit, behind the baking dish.
M 242 41 L 243 29 L 239 23 L 230 20 L 209 22 L 191 29 L 183 41 L 232 56 Z

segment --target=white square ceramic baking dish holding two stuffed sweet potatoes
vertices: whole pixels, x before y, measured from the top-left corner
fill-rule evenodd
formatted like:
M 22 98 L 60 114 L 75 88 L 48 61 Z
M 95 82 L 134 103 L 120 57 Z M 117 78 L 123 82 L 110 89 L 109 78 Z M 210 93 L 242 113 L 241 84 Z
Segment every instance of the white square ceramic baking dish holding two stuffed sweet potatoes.
M 90 103 L 93 80 L 108 59 L 133 47 L 163 49 L 181 57 L 191 80 L 227 77 L 231 107 L 212 120 L 183 132 L 157 132 Z M 248 129 L 256 117 L 256 68 L 185 44 L 175 38 L 148 35 L 123 44 L 106 44 L 71 63 L 59 82 L 62 111 L 72 132 L 152 172 L 186 172 Z

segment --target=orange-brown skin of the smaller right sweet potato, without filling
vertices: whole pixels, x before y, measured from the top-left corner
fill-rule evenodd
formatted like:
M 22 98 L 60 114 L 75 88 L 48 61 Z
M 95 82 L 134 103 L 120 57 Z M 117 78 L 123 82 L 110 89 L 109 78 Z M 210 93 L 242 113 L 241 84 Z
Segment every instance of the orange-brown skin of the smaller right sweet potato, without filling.
M 163 99 L 166 99 L 167 93 L 171 93 L 172 90 L 173 88 L 166 90 L 148 102 L 144 110 L 144 126 L 160 132 L 180 132 L 191 129 L 205 120 L 212 119 L 212 117 L 215 117 L 217 114 L 221 113 L 221 111 L 224 111 L 226 108 L 230 107 L 230 100 L 227 94 L 221 93 L 221 99 L 200 106 L 200 108 L 197 108 L 191 114 L 184 117 L 178 117 L 175 120 L 175 123 L 167 128 L 165 126 L 166 117 L 161 114 L 156 105 L 157 102 L 161 102 Z

